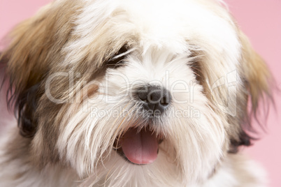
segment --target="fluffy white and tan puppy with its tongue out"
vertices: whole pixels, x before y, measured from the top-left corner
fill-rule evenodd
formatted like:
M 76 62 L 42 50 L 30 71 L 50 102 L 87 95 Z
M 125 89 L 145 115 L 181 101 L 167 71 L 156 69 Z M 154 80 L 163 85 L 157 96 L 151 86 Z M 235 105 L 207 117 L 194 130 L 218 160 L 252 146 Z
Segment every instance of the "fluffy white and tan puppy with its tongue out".
M 0 186 L 266 186 L 271 73 L 223 1 L 57 0 L 8 40 Z

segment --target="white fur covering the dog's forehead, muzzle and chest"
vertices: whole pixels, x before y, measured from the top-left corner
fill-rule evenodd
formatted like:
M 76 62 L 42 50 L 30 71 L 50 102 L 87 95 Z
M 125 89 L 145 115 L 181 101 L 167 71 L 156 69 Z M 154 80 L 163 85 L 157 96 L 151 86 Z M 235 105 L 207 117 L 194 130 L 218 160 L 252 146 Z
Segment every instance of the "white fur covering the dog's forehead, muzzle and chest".
M 213 76 L 206 80 L 208 87 L 227 75 L 229 82 L 242 87 L 240 77 L 232 73 L 239 66 L 241 53 L 234 23 L 224 8 L 210 10 L 206 2 L 80 1 L 83 8 L 71 33 L 75 40 L 64 46 L 66 57 L 58 62 L 60 66 L 79 66 L 89 54 L 101 59 L 99 52 L 108 42 L 119 46 L 127 41 L 134 48 L 127 54 L 126 66 L 108 69 L 96 82 L 87 82 L 86 88 L 98 84 L 99 89 L 64 114 L 56 148 L 69 167 L 47 165 L 37 170 L 22 160 L 6 164 L 8 158 L 1 152 L 0 186 L 240 186 L 231 160 L 224 159 L 225 129 L 231 124 L 214 110 L 191 68 L 194 58 L 190 54 L 203 52 L 205 63 L 215 67 L 210 68 Z M 138 38 L 135 43 L 133 36 Z M 131 96 L 134 88 L 145 84 L 165 87 L 173 102 L 169 112 L 152 123 L 154 133 L 164 137 L 157 160 L 150 165 L 132 165 L 114 151 L 113 143 L 128 128 L 147 128 L 145 112 L 137 116 L 140 105 Z M 228 90 L 232 101 L 236 89 Z M 229 107 L 234 107 L 233 102 Z M 93 109 L 119 113 L 99 117 Z M 199 116 L 173 114 L 187 109 L 198 110 Z M 40 141 L 37 133 L 33 143 Z M 252 165 L 250 161 L 243 164 Z M 215 167 L 217 172 L 210 177 Z M 243 168 L 247 170 L 247 166 Z M 243 187 L 253 186 L 256 184 Z

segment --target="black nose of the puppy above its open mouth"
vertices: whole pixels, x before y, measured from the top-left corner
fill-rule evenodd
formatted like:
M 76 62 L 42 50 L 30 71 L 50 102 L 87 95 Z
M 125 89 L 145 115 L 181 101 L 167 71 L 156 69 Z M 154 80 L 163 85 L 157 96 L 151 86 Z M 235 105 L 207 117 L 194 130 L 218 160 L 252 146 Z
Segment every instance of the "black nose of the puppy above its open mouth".
M 161 114 L 171 103 L 171 93 L 159 86 L 148 85 L 136 91 L 136 98 L 141 100 L 143 108 L 153 114 Z

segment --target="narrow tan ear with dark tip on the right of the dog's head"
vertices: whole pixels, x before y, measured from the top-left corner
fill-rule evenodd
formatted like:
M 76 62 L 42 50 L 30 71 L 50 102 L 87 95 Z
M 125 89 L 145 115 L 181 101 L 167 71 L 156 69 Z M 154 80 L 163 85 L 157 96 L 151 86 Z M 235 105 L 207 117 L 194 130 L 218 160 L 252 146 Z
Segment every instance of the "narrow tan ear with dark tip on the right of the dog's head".
M 253 119 L 260 125 L 258 112 L 259 105 L 263 103 L 263 112 L 267 112 L 268 104 L 272 100 L 271 95 L 271 82 L 273 78 L 271 73 L 266 66 L 264 60 L 254 51 L 249 39 L 242 31 L 238 33 L 241 43 L 241 59 L 240 59 L 240 75 L 243 78 L 243 89 L 247 90 L 243 97 L 245 98 L 244 103 L 240 105 L 240 132 L 238 140 L 231 140 L 231 151 L 238 151 L 238 147 L 241 145 L 250 146 L 251 140 L 255 140 L 253 137 L 257 130 L 252 126 Z M 266 118 L 266 116 L 264 116 Z

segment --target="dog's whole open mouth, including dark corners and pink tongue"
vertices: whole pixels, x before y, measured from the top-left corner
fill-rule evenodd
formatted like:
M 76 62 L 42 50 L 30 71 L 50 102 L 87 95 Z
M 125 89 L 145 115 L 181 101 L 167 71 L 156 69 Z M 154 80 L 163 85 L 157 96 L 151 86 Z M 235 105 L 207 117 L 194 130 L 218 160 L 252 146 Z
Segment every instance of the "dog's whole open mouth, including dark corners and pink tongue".
M 115 151 L 134 165 L 147 165 L 157 159 L 163 141 L 151 128 L 129 128 L 115 139 Z

